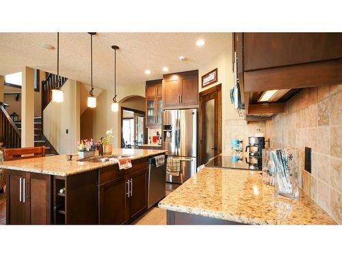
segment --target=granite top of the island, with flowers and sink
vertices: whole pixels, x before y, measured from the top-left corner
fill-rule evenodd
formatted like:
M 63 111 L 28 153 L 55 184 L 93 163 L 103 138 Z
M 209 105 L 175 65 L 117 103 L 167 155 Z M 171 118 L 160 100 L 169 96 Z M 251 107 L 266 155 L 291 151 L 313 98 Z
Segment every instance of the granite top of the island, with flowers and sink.
M 166 151 L 153 149 L 113 149 L 111 156 L 115 154 L 125 154 L 131 155 L 131 159 L 136 160 L 164 153 L 166 153 Z M 111 156 L 105 157 L 111 158 Z M 67 176 L 76 173 L 82 173 L 85 171 L 91 171 L 93 169 L 99 169 L 101 167 L 107 167 L 113 164 L 116 164 L 116 162 L 81 161 L 79 160 L 79 156 L 77 154 L 74 154 L 73 160 L 66 160 L 66 154 L 61 154 L 58 156 L 0 162 L 0 168 L 28 171 L 33 173 L 43 173 L 49 175 Z

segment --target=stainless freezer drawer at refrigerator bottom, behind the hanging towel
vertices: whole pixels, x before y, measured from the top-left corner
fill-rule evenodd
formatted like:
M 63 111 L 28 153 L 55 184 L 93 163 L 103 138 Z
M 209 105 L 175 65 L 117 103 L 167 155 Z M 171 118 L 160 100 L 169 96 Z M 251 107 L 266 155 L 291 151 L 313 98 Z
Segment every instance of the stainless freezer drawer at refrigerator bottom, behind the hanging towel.
M 166 173 L 166 182 L 183 184 L 196 173 L 196 157 L 176 157 L 169 156 L 168 158 L 178 158 L 181 160 L 181 172 L 179 176 L 168 175 Z

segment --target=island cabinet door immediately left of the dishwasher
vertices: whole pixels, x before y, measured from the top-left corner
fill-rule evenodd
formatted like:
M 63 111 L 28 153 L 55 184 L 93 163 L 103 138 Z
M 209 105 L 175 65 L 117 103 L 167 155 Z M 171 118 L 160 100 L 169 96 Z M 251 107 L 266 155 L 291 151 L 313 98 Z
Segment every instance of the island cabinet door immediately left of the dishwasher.
M 147 210 L 147 178 L 148 169 L 137 171 L 127 178 L 131 180 L 129 202 L 129 221 L 136 219 Z

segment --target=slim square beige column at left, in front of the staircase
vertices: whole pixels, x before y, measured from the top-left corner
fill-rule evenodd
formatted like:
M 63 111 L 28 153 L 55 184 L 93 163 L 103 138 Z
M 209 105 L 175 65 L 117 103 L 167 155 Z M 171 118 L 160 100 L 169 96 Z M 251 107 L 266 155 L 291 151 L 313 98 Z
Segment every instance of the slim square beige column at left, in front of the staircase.
M 34 147 L 34 69 L 24 67 L 21 87 L 21 147 Z

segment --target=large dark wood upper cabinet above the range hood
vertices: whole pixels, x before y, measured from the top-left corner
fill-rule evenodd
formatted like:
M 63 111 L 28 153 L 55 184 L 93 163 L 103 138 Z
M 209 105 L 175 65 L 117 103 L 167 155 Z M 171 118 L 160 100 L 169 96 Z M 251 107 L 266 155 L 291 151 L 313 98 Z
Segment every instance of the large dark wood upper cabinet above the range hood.
M 233 52 L 244 92 L 342 82 L 342 33 L 234 33 Z

